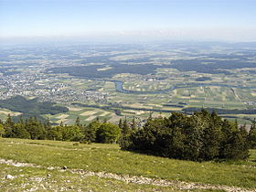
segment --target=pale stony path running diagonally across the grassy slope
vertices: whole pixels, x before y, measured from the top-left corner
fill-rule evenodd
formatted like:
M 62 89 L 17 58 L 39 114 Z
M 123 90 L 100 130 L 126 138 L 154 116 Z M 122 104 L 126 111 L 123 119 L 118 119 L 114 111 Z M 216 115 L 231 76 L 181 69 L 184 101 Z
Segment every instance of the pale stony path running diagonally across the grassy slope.
M 37 168 L 47 168 L 48 170 L 58 170 L 59 172 L 65 172 L 69 171 L 73 174 L 80 174 L 81 176 L 99 176 L 102 178 L 112 178 L 119 181 L 123 181 L 126 183 L 135 183 L 139 185 L 153 185 L 153 186 L 160 186 L 160 187 L 177 187 L 179 189 L 183 190 L 189 190 L 189 189 L 219 189 L 219 190 L 225 190 L 228 192 L 253 192 L 255 190 L 248 190 L 241 187 L 228 187 L 228 186 L 216 186 L 216 185 L 210 185 L 210 184 L 198 184 L 198 183 L 187 183 L 182 181 L 170 181 L 165 179 L 155 179 L 155 178 L 149 178 L 144 176 L 128 176 L 128 175 L 118 175 L 118 174 L 112 174 L 112 173 L 106 173 L 106 172 L 92 172 L 92 171 L 86 171 L 82 169 L 69 169 L 68 167 L 58 167 L 58 166 L 50 166 L 50 167 L 44 167 L 42 165 L 35 165 L 35 164 L 28 164 L 28 163 L 21 163 L 16 162 L 13 160 L 5 160 L 0 159 L 0 164 L 5 165 L 13 165 L 17 167 L 37 167 Z

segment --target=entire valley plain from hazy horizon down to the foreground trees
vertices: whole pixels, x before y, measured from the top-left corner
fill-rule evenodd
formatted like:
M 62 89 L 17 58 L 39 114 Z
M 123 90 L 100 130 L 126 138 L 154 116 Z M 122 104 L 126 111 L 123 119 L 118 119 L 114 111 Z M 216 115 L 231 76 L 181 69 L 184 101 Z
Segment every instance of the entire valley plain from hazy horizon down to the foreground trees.
M 77 117 L 81 123 L 96 118 L 117 123 L 125 117 L 144 121 L 151 113 L 169 116 L 171 112 L 200 108 L 221 111 L 223 118 L 240 124 L 250 124 L 256 118 L 254 44 L 195 42 L 34 49 L 18 48 L 14 52 L 16 48 L 3 48 L 1 100 L 21 95 L 68 107 L 69 112 L 38 114 L 55 124 L 74 123 Z M 38 50 L 48 53 L 42 56 Z M 65 55 L 61 52 L 64 50 Z M 27 55 L 40 59 L 32 59 L 32 65 Z M 0 118 L 5 120 L 7 112 L 18 116 L 21 110 L 6 106 Z

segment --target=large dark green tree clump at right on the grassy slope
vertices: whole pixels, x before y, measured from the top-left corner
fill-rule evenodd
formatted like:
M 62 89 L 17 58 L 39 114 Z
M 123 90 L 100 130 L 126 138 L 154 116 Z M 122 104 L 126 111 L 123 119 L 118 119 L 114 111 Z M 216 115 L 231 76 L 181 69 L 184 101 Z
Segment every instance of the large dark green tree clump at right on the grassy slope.
M 245 124 L 222 120 L 216 112 L 173 112 L 168 118 L 149 117 L 140 128 L 123 127 L 120 145 L 123 150 L 183 160 L 245 160 L 249 149 L 256 148 L 256 121 L 248 133 Z

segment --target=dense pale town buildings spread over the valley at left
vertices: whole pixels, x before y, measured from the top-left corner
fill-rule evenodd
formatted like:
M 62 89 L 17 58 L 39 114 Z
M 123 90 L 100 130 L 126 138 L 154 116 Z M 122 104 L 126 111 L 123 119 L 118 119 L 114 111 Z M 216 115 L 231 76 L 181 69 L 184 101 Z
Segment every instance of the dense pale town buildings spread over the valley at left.
M 26 71 L 5 76 L 0 73 L 0 99 L 6 100 L 16 95 L 64 104 L 73 101 L 107 101 L 105 92 L 83 91 L 62 83 L 58 77 L 50 74 Z

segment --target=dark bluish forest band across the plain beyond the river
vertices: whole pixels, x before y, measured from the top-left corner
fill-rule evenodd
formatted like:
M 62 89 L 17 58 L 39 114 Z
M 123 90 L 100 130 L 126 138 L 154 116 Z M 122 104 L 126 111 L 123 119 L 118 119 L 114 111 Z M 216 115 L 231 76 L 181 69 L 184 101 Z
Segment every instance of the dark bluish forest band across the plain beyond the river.
M 223 73 L 226 75 L 231 75 L 227 69 L 242 69 L 249 68 L 250 70 L 255 68 L 255 62 L 248 62 L 246 57 L 240 56 L 226 56 L 226 55 L 207 55 L 210 59 L 176 59 L 172 60 L 170 64 L 165 65 L 153 65 L 145 64 L 138 65 L 136 63 L 150 63 L 154 57 L 145 57 L 142 59 L 126 59 L 125 62 L 129 63 L 123 64 L 119 61 L 110 59 L 108 56 L 101 57 L 88 57 L 80 64 L 87 63 L 103 63 L 107 64 L 112 69 L 102 70 L 101 73 L 97 69 L 105 67 L 105 65 L 80 65 L 80 66 L 70 66 L 70 67 L 56 67 L 47 69 L 48 73 L 69 73 L 71 76 L 83 77 L 83 78 L 112 78 L 112 76 L 120 73 L 135 73 L 141 75 L 155 74 L 156 69 L 177 69 L 179 71 L 197 71 L 198 73 L 209 73 L 209 74 L 219 74 Z M 233 58 L 236 58 L 234 60 Z M 208 63 L 208 64 L 205 64 Z M 198 79 L 197 81 L 209 80 Z

